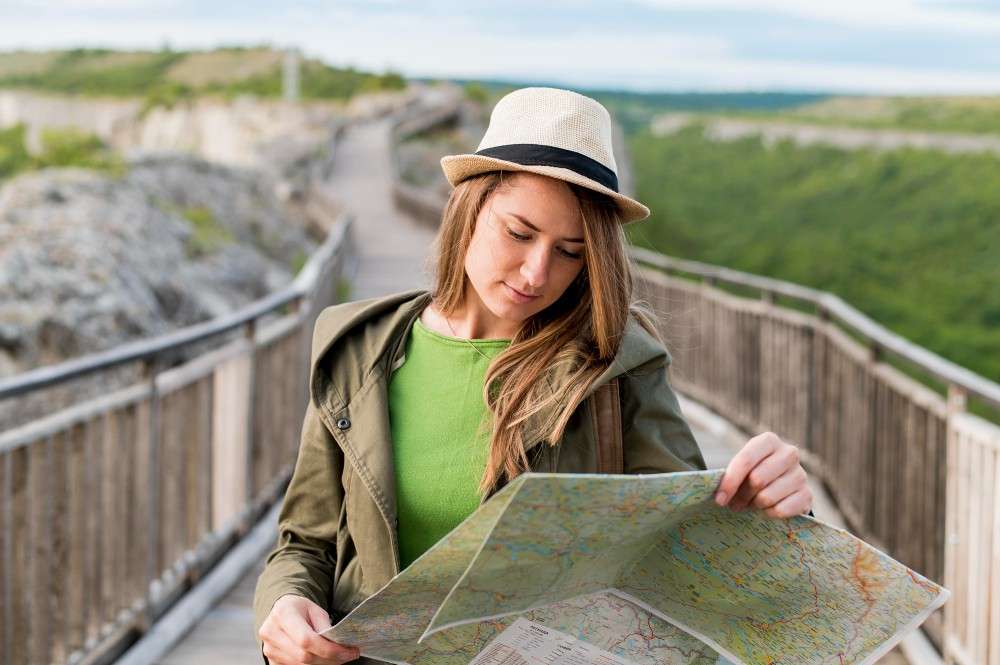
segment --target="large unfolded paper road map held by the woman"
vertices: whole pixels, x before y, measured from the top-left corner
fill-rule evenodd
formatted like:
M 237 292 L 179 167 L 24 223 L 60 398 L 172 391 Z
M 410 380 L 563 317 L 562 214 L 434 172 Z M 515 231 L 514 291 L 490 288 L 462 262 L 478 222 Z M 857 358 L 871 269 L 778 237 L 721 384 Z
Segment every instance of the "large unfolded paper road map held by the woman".
M 723 470 L 526 473 L 323 633 L 412 665 L 872 663 L 948 591 Z

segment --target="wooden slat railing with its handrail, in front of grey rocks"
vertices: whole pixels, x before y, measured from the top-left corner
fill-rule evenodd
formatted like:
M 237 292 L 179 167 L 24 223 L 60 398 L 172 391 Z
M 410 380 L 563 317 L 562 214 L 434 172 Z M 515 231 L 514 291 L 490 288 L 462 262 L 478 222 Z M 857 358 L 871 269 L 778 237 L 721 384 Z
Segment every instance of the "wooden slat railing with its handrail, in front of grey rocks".
M 354 257 L 342 216 L 279 293 L 0 381 L 4 400 L 130 363 L 145 377 L 0 431 L 0 662 L 108 662 L 280 496 L 313 323 Z

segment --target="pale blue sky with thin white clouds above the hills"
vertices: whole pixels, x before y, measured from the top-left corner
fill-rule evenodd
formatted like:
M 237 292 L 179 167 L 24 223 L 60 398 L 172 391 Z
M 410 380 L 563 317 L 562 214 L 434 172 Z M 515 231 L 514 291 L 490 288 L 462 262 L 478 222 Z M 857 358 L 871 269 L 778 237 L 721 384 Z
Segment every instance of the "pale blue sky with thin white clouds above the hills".
M 1000 94 L 1000 0 L 0 0 L 0 50 L 164 44 L 580 88 Z

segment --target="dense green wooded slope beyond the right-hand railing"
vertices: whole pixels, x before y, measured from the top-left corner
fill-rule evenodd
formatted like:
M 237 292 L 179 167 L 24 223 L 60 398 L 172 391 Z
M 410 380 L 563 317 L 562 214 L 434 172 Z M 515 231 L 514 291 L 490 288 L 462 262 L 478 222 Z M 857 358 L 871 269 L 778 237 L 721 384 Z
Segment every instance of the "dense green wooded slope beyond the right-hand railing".
M 1000 380 L 1000 160 L 714 142 L 698 126 L 629 138 L 666 254 L 838 294 L 913 342 Z

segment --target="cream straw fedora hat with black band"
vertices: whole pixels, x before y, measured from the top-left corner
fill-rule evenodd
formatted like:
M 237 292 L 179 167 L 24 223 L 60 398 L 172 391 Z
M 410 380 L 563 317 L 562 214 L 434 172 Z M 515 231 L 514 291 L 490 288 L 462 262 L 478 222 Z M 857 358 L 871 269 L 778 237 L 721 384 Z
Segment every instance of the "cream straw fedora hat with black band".
M 442 157 L 441 168 L 453 187 L 487 171 L 530 171 L 607 194 L 625 224 L 649 217 L 649 208 L 618 192 L 608 110 L 571 90 L 532 87 L 504 95 L 476 152 Z

